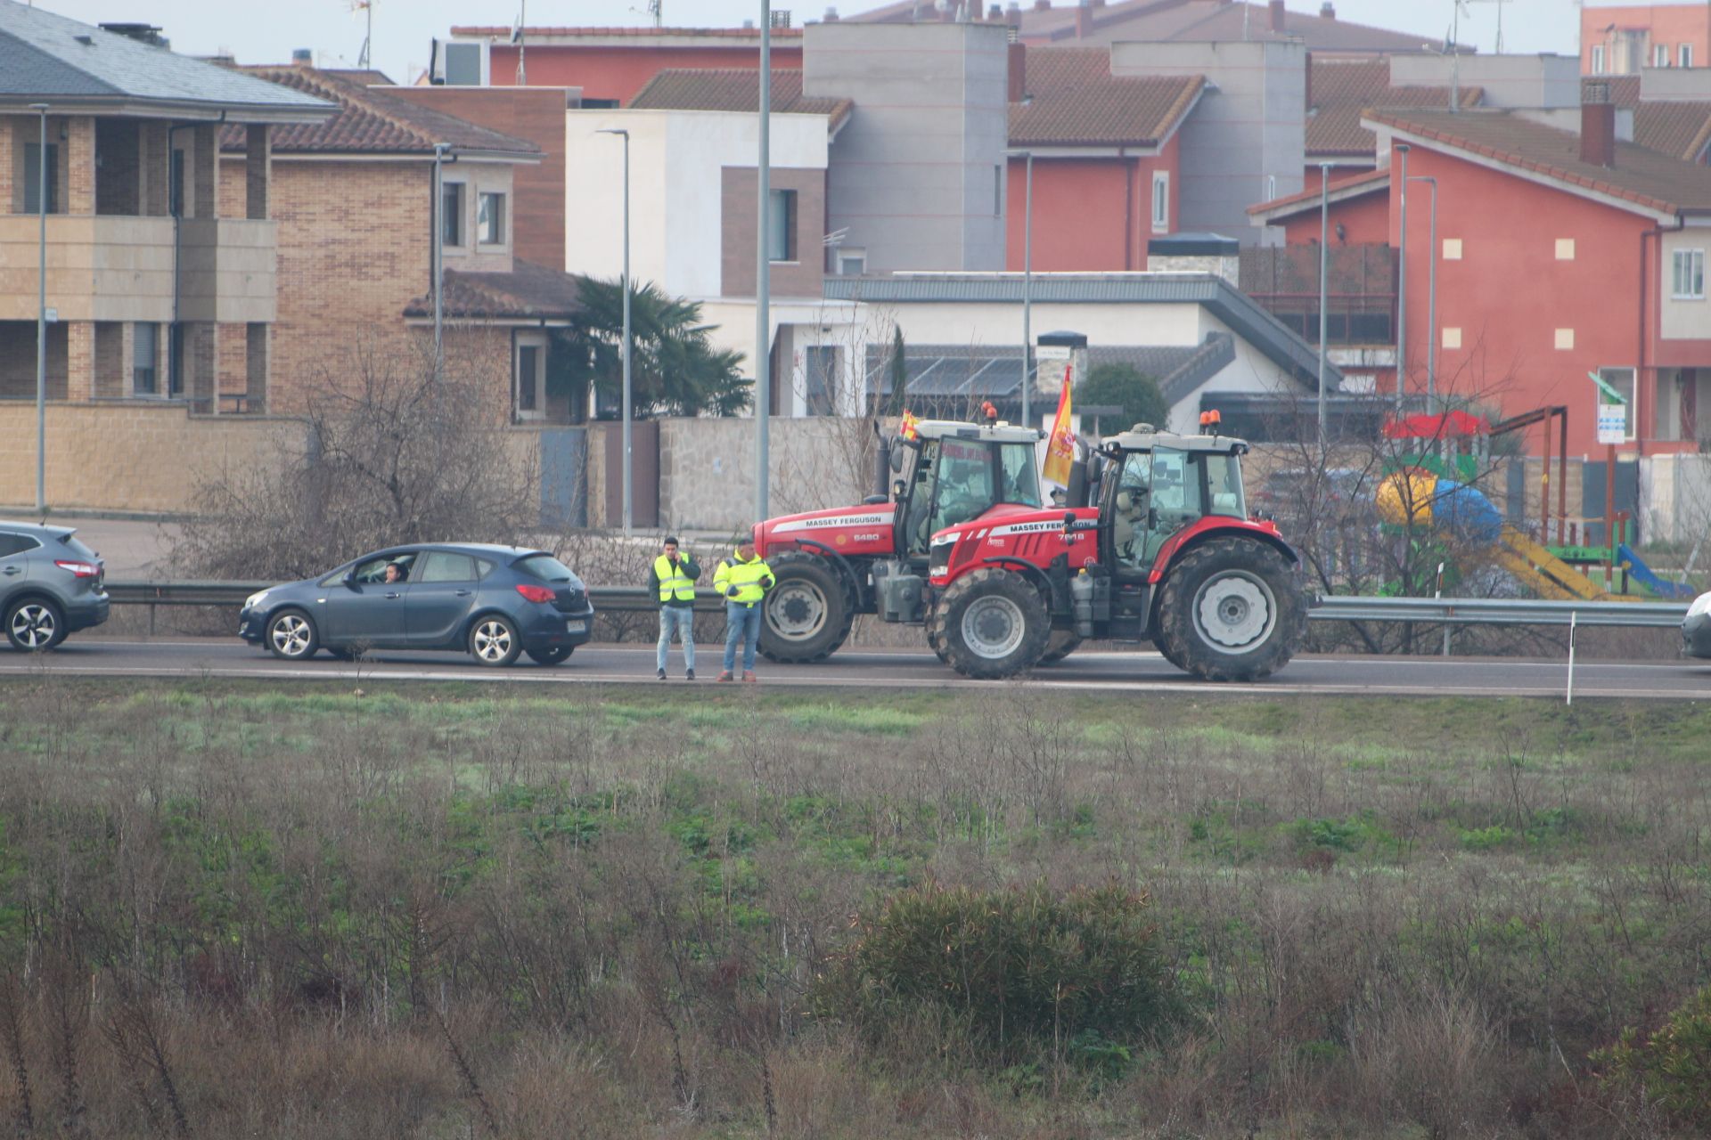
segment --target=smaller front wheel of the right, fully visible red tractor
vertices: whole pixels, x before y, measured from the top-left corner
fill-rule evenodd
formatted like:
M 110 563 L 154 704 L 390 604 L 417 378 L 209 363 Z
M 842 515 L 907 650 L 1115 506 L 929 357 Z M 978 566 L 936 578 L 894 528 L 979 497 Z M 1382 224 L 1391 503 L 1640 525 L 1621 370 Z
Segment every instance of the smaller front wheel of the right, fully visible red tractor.
M 927 615 L 929 643 L 963 677 L 999 680 L 1033 668 L 1045 653 L 1052 619 L 1040 591 L 1006 569 L 963 574 Z

